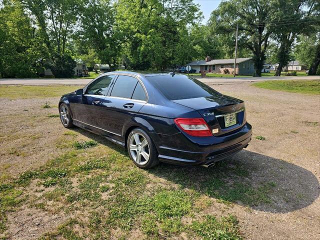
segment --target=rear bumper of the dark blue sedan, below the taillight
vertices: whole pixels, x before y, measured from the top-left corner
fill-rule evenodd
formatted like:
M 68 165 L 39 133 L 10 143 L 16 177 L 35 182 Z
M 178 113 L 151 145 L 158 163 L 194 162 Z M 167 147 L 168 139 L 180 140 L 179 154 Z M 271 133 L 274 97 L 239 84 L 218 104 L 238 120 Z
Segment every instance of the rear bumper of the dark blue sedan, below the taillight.
M 179 165 L 207 165 L 232 156 L 246 147 L 251 135 L 251 125 L 246 123 L 227 136 L 208 137 L 206 143 L 202 138 L 200 144 L 190 141 L 182 133 L 154 137 L 157 138 L 155 144 L 160 161 Z

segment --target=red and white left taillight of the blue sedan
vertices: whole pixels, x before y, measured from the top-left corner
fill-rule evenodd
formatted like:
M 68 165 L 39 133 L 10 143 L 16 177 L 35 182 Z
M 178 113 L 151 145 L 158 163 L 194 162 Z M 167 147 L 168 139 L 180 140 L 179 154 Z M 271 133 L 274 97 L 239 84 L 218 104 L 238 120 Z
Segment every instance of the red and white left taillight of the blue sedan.
M 175 118 L 175 124 L 191 136 L 212 136 L 203 118 Z

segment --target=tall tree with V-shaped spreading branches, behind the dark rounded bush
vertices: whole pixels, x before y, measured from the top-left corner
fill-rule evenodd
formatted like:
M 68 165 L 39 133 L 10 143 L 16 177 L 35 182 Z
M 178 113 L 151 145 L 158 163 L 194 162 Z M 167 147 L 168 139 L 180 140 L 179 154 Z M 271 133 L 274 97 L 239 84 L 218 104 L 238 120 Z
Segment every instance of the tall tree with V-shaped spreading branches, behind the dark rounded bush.
M 72 72 L 66 73 L 64 64 L 75 66 L 75 62 L 72 63 L 66 45 L 78 18 L 79 0 L 21 0 L 21 2 L 36 21 L 50 54 L 48 64 L 52 73 L 56 76 L 69 76 Z

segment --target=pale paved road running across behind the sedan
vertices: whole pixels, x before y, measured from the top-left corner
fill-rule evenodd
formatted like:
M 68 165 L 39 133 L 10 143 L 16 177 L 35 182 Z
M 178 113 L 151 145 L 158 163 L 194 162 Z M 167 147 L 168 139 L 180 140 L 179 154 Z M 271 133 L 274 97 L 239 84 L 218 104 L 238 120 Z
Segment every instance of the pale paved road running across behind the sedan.
M 206 84 L 245 83 L 265 80 L 320 80 L 320 76 L 262 76 L 262 77 L 197 77 Z M 91 79 L 81 78 L 2 78 L 0 84 L 10 85 L 85 85 Z

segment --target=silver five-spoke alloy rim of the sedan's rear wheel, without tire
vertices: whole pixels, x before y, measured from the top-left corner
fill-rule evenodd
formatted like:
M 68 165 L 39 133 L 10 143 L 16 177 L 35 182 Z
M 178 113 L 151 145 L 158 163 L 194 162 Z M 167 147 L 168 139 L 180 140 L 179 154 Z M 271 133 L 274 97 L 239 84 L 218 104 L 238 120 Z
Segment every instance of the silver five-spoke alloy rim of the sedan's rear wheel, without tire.
M 133 133 L 129 139 L 129 150 L 133 160 L 144 165 L 149 160 L 149 144 L 146 138 L 140 133 Z

